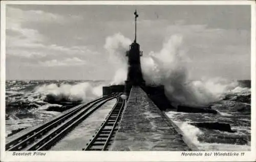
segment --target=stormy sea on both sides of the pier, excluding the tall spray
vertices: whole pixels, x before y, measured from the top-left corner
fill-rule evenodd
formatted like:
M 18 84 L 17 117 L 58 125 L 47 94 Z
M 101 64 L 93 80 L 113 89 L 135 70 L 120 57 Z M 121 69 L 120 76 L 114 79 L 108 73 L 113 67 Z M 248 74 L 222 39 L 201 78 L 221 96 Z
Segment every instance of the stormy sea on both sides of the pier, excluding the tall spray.
M 183 113 L 166 110 L 165 114 L 199 150 L 250 150 L 250 80 L 224 92 L 224 97 L 207 103 L 218 114 Z M 109 80 L 7 80 L 6 137 L 20 130 L 45 123 L 77 105 L 102 96 Z M 191 123 L 228 123 L 232 132 L 196 127 Z

